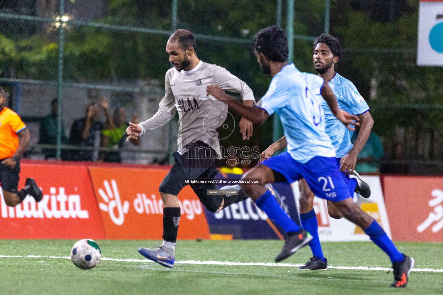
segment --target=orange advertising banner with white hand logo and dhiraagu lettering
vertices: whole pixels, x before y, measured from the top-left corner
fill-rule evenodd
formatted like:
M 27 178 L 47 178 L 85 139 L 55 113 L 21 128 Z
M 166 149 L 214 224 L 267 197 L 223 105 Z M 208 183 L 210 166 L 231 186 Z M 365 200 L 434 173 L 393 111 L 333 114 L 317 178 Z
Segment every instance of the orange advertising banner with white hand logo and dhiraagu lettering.
M 167 169 L 89 167 L 107 239 L 161 239 L 163 202 L 159 185 Z M 209 227 L 197 195 L 179 193 L 178 239 L 209 239 Z

